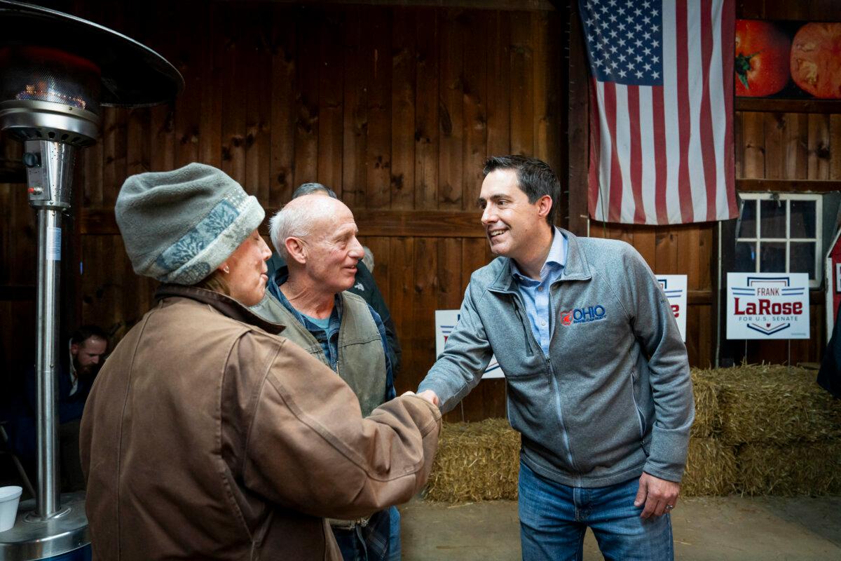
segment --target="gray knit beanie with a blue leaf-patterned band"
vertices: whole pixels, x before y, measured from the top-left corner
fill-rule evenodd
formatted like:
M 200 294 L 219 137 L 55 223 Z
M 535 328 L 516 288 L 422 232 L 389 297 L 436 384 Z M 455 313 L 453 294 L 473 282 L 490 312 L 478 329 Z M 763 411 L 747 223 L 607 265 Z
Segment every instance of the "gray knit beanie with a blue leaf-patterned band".
M 198 163 L 129 177 L 114 214 L 135 273 L 187 285 L 213 273 L 266 216 L 225 172 Z

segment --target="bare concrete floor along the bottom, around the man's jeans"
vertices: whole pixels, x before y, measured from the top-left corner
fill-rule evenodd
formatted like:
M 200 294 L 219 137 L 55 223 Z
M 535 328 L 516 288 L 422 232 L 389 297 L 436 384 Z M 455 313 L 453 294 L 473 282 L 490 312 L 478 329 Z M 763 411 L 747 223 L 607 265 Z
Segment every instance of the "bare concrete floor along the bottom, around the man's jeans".
M 403 513 L 404 561 L 520 559 L 513 501 L 413 500 Z M 841 497 L 696 497 L 672 514 L 674 557 L 733 561 L 841 560 Z M 584 561 L 601 559 L 587 532 Z

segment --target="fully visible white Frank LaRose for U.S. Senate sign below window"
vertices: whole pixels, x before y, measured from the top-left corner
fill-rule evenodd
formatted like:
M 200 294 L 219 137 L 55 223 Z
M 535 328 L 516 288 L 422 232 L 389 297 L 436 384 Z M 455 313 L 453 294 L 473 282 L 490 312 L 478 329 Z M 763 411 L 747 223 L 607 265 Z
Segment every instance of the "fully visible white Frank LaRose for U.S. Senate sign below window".
M 727 273 L 727 339 L 808 339 L 807 273 Z

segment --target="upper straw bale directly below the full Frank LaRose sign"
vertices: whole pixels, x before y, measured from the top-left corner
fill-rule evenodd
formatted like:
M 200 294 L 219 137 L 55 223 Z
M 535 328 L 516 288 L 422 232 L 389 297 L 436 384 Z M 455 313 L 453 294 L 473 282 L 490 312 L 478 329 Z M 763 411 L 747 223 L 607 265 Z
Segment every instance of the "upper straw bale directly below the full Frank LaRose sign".
M 841 438 L 841 402 L 815 384 L 815 373 L 783 365 L 712 371 L 727 444 L 817 442 Z

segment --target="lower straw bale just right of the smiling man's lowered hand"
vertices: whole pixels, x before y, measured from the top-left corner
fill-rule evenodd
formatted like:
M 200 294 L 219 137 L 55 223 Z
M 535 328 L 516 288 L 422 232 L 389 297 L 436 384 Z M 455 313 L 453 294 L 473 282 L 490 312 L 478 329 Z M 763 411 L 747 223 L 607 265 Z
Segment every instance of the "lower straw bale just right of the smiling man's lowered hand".
M 716 438 L 696 438 L 689 442 L 686 471 L 680 495 L 729 495 L 736 479 L 736 451 Z

